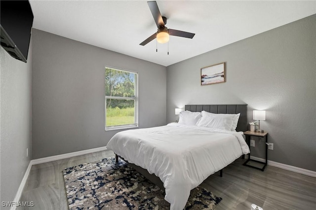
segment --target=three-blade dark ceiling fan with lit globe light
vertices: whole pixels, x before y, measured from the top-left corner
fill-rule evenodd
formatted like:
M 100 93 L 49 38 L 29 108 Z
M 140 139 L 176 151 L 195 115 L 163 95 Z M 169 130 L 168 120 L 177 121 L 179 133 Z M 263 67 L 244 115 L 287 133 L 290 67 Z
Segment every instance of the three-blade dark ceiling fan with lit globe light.
M 166 43 L 169 41 L 169 35 L 177 36 L 177 37 L 184 37 L 192 39 L 195 34 L 179 31 L 174 29 L 168 29 L 165 25 L 167 24 L 167 18 L 161 16 L 157 2 L 156 1 L 147 1 L 150 11 L 153 14 L 154 20 L 158 27 L 158 30 L 155 34 L 147 38 L 144 42 L 140 43 L 140 45 L 144 46 L 147 43 L 155 40 L 157 38 L 157 42 L 159 43 Z

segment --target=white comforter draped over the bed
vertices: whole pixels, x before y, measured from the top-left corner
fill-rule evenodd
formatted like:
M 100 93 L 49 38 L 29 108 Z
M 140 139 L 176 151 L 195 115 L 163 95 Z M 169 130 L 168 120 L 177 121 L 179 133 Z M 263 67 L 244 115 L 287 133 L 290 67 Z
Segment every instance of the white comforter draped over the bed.
M 192 189 L 249 153 L 242 132 L 176 123 L 118 132 L 107 148 L 155 173 L 163 182 L 170 210 L 183 210 Z

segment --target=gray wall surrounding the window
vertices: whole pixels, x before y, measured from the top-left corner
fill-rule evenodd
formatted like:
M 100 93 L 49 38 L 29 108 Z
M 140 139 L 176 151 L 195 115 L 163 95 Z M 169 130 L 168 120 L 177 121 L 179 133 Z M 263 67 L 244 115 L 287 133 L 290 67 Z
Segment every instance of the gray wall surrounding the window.
M 106 39 L 106 38 L 105 38 Z M 105 66 L 138 72 L 139 127 L 166 123 L 166 67 L 33 30 L 33 159 L 106 146 Z

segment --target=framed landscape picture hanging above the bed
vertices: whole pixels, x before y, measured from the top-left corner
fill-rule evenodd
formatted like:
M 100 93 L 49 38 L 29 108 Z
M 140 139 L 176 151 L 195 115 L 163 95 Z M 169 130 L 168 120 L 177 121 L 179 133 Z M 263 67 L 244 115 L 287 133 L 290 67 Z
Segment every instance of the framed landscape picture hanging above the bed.
M 201 68 L 201 85 L 225 83 L 225 62 Z

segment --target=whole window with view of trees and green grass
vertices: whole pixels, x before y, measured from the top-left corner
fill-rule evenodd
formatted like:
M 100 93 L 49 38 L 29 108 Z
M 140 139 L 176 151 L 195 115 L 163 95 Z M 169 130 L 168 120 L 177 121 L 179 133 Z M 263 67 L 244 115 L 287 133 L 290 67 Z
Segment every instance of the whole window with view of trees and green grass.
M 105 129 L 138 126 L 138 74 L 105 67 Z

